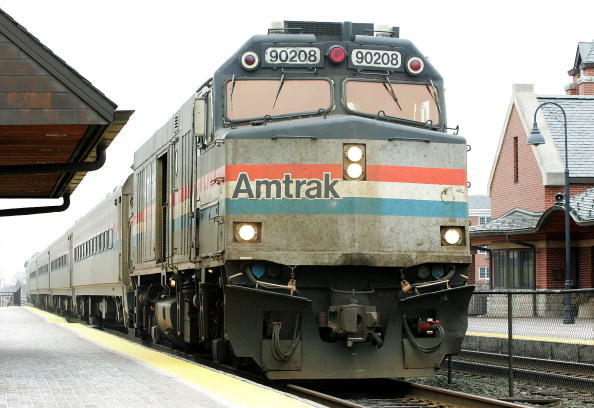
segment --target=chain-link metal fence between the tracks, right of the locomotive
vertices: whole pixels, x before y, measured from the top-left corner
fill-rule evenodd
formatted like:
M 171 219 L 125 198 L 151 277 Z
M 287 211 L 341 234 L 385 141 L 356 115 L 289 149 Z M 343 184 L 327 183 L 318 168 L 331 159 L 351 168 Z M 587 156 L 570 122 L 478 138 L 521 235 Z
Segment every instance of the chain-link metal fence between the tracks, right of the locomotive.
M 498 378 L 509 397 L 517 388 L 593 393 L 594 289 L 475 292 L 462 351 L 444 369 L 449 386 Z

